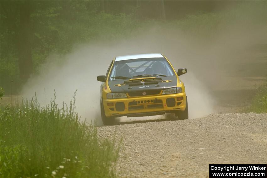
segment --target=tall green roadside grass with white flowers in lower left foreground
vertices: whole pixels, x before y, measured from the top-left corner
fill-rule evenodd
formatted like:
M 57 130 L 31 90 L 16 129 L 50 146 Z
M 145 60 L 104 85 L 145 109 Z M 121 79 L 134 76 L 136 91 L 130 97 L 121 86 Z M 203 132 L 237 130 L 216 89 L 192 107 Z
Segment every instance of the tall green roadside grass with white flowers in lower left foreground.
M 55 99 L 0 108 L 0 177 L 116 177 L 121 142 L 79 120 L 75 95 L 69 106 Z

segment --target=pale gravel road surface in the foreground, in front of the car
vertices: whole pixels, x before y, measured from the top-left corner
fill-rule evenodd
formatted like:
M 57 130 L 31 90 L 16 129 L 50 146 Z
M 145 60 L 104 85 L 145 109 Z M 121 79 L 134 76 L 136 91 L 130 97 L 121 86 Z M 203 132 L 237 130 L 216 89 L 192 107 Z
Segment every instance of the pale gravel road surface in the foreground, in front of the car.
M 266 164 L 267 114 L 211 114 L 182 121 L 98 127 L 123 137 L 119 177 L 208 177 L 209 164 Z

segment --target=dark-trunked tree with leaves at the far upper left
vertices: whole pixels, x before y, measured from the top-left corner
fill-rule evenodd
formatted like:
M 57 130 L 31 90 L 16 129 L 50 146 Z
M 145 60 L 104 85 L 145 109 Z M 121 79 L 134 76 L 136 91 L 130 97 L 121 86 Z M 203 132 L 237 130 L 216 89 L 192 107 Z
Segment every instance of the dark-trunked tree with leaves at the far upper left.
M 30 15 L 32 12 L 31 1 L 2 1 L 3 14 L 1 18 L 5 25 L 8 40 L 15 44 L 19 61 L 21 82 L 25 82 L 32 73 L 31 39 L 32 28 Z M 13 46 L 12 46 L 13 47 Z M 11 50 L 11 49 L 9 49 Z

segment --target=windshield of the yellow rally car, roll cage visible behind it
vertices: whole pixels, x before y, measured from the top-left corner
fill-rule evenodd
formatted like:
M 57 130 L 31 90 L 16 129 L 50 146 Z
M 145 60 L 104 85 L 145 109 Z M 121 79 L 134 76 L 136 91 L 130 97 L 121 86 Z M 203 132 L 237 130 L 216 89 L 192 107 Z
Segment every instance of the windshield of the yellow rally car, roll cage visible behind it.
M 173 75 L 171 66 L 163 57 L 130 59 L 115 61 L 109 80 Z

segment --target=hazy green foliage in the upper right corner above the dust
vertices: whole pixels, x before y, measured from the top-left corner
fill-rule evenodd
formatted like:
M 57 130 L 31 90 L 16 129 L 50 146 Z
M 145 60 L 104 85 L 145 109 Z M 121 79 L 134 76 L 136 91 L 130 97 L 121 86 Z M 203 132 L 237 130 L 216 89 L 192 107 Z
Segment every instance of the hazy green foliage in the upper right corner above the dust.
M 169 29 L 176 29 L 187 35 L 188 40 L 217 40 L 220 32 L 231 31 L 243 33 L 244 29 L 253 30 L 263 23 L 266 24 L 266 2 L 241 2 L 235 8 L 224 11 L 199 11 L 187 14 L 185 18 L 167 23 Z

